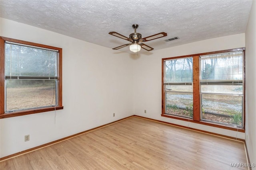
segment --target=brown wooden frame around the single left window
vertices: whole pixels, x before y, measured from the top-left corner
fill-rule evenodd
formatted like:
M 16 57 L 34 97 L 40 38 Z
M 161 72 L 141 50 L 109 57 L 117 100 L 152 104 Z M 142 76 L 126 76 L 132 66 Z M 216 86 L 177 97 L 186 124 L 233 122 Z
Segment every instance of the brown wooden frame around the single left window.
M 35 47 L 42 47 L 46 49 L 54 49 L 58 50 L 59 52 L 59 61 L 58 61 L 58 106 L 56 107 L 44 107 L 44 108 L 32 108 L 24 111 L 14 111 L 12 113 L 5 113 L 4 105 L 5 105 L 5 87 L 4 87 L 4 72 L 5 72 L 5 41 L 10 41 L 14 43 L 20 43 L 24 45 L 31 45 Z M 16 116 L 22 116 L 22 115 L 28 115 L 28 114 L 34 114 L 34 113 L 41 113 L 46 111 L 54 111 L 63 109 L 62 106 L 62 48 L 58 47 L 52 47 L 49 45 L 42 45 L 38 43 L 32 43 L 28 41 L 22 41 L 18 39 L 12 39 L 7 37 L 0 37 L 0 119 L 2 118 L 8 118 L 8 117 L 16 117 Z

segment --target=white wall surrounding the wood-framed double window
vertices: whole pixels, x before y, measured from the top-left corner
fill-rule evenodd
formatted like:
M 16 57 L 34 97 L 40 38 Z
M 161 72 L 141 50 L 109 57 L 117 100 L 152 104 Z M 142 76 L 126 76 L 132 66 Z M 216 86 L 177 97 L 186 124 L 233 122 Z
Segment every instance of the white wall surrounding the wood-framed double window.
M 171 42 L 167 42 L 171 43 Z M 162 58 L 192 55 L 245 47 L 244 33 L 214 39 L 207 39 L 168 49 L 154 51 L 151 55 L 140 55 L 134 63 L 134 113 L 144 117 L 189 126 L 204 131 L 244 139 L 244 133 L 206 125 L 189 123 L 168 117 L 161 117 L 162 100 Z M 144 113 L 144 110 L 147 113 Z

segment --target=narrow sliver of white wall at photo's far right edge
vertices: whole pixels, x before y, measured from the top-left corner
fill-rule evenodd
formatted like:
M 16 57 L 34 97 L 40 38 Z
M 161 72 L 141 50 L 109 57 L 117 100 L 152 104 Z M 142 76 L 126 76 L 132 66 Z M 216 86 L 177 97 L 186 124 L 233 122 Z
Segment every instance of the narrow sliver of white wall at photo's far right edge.
M 245 33 L 246 62 L 246 145 L 251 163 L 256 163 L 256 1 L 252 2 Z M 256 167 L 252 168 L 256 170 Z

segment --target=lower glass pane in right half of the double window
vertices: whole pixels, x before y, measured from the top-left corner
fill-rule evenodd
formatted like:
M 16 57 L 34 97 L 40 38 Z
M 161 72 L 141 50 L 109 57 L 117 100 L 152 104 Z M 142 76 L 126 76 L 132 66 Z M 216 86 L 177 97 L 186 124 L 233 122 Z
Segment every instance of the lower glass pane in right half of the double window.
M 242 127 L 242 96 L 202 94 L 202 119 Z

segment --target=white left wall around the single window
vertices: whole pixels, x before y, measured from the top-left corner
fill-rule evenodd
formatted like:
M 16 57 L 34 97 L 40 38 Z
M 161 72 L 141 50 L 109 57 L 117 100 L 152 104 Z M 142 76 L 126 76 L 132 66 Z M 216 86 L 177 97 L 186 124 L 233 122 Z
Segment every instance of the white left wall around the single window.
M 64 106 L 56 120 L 54 111 L 0 119 L 0 157 L 134 114 L 133 60 L 127 53 L 3 18 L 0 30 L 3 37 L 62 48 Z M 24 142 L 27 134 L 30 141 Z

